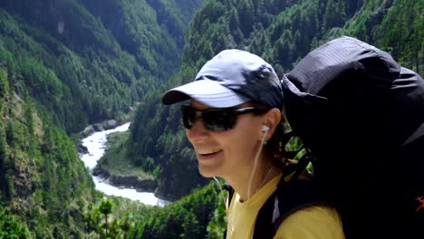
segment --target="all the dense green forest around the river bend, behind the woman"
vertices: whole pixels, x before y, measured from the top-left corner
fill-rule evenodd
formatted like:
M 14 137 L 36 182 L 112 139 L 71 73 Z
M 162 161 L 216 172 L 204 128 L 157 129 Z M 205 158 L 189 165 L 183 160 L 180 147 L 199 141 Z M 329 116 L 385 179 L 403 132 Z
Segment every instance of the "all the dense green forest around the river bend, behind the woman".
M 162 106 L 162 93 L 227 48 L 260 55 L 281 77 L 341 35 L 422 73 L 423 8 L 410 0 L 1 1 L 0 237 L 104 238 L 110 218 L 118 238 L 222 238 L 223 194 L 199 176 L 178 106 Z M 122 148 L 157 178 L 158 196 L 180 198 L 162 209 L 101 201 L 71 139 L 133 109 Z

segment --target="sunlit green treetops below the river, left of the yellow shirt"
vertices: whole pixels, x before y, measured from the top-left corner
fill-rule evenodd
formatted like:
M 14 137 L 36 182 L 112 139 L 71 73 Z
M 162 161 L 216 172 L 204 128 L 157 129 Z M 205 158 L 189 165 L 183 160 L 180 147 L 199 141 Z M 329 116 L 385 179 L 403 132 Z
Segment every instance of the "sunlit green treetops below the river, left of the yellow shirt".
M 212 182 L 164 207 L 116 197 L 101 200 L 89 206 L 89 238 L 222 238 L 226 225 L 221 215 L 225 213 L 224 196 Z M 107 230 L 106 218 L 111 218 Z

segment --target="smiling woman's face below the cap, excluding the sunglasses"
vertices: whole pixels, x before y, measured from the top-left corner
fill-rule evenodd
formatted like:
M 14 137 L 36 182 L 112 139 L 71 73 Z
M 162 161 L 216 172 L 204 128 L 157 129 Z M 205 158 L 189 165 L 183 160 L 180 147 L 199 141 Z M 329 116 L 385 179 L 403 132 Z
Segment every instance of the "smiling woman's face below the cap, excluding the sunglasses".
M 196 110 L 209 110 L 206 105 L 191 100 Z M 248 103 L 235 108 L 244 108 Z M 204 177 L 231 177 L 249 170 L 261 143 L 262 116 L 246 113 L 239 115 L 233 129 L 210 131 L 203 126 L 202 119 L 195 120 L 187 129 L 187 137 L 198 158 L 198 168 Z

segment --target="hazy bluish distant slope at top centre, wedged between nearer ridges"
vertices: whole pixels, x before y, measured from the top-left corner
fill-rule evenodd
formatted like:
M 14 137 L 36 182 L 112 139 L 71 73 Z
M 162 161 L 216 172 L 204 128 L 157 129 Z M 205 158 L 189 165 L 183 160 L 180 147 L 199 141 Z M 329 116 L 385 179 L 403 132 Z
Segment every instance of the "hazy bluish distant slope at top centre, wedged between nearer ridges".
M 159 81 L 178 71 L 185 25 L 201 4 L 198 0 L 80 2 L 101 18 L 122 50 L 133 54 Z

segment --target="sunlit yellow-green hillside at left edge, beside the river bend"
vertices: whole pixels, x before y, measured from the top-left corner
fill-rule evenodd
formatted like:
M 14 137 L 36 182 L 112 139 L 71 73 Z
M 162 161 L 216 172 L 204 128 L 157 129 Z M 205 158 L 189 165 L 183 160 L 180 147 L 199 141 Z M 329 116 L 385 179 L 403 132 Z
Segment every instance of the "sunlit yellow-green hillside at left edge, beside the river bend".
M 63 130 L 6 75 L 0 68 L 0 232 L 82 237 L 85 207 L 96 197 L 92 177 Z

